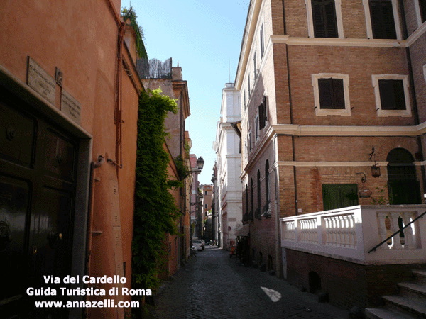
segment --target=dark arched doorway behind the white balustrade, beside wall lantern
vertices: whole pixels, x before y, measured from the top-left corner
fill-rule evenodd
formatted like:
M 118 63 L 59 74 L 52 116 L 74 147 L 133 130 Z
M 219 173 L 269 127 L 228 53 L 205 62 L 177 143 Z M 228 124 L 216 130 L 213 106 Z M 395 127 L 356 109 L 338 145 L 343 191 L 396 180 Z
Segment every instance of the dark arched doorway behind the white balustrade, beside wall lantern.
M 413 155 L 404 148 L 394 148 L 386 160 L 389 162 L 389 203 L 393 205 L 422 203 Z

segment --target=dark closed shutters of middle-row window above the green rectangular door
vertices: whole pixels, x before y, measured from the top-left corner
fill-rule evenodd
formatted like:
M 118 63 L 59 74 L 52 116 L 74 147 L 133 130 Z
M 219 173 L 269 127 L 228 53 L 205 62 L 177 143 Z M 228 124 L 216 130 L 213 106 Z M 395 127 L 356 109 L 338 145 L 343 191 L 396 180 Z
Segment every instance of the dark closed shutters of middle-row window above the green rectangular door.
M 344 109 L 343 79 L 318 79 L 320 107 L 322 109 Z

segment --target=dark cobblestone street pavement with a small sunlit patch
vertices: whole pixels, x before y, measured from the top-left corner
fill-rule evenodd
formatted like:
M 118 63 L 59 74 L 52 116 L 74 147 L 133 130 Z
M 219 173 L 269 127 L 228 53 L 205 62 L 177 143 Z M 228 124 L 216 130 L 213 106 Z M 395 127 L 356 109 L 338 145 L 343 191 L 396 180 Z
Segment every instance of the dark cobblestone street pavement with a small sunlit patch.
M 317 296 L 283 279 L 236 264 L 217 247 L 197 252 L 173 278 L 160 287 L 149 318 L 348 318 L 346 311 L 318 303 Z

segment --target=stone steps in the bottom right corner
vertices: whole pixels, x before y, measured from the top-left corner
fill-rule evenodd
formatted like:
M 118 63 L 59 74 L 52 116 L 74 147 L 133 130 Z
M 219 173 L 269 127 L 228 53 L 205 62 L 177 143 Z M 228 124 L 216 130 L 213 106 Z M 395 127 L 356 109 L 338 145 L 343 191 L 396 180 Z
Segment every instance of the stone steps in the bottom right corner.
M 398 295 L 382 296 L 383 307 L 366 308 L 366 318 L 426 319 L 426 270 L 413 270 L 413 276 L 413 282 L 398 284 Z

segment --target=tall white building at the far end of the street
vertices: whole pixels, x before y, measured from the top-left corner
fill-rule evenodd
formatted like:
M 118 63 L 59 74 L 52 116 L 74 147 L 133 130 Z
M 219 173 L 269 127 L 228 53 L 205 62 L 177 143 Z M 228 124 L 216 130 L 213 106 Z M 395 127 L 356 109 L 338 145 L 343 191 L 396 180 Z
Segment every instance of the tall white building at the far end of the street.
M 236 245 L 237 225 L 242 223 L 241 142 L 236 125 L 241 122 L 240 94 L 234 84 L 226 83 L 222 91 L 221 119 L 217 124 L 213 149 L 217 154 L 217 189 L 221 219 L 220 242 L 229 250 Z M 234 127 L 233 127 L 234 125 Z

